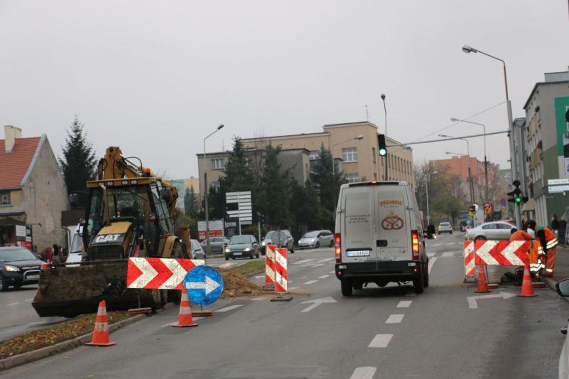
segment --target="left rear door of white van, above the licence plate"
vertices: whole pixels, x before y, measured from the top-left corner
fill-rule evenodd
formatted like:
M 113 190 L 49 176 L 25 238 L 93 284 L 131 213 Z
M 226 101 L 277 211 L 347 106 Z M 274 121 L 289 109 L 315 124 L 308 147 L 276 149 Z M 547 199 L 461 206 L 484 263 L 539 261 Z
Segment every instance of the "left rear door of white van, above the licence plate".
M 376 261 L 376 206 L 373 186 L 343 190 L 342 263 Z

